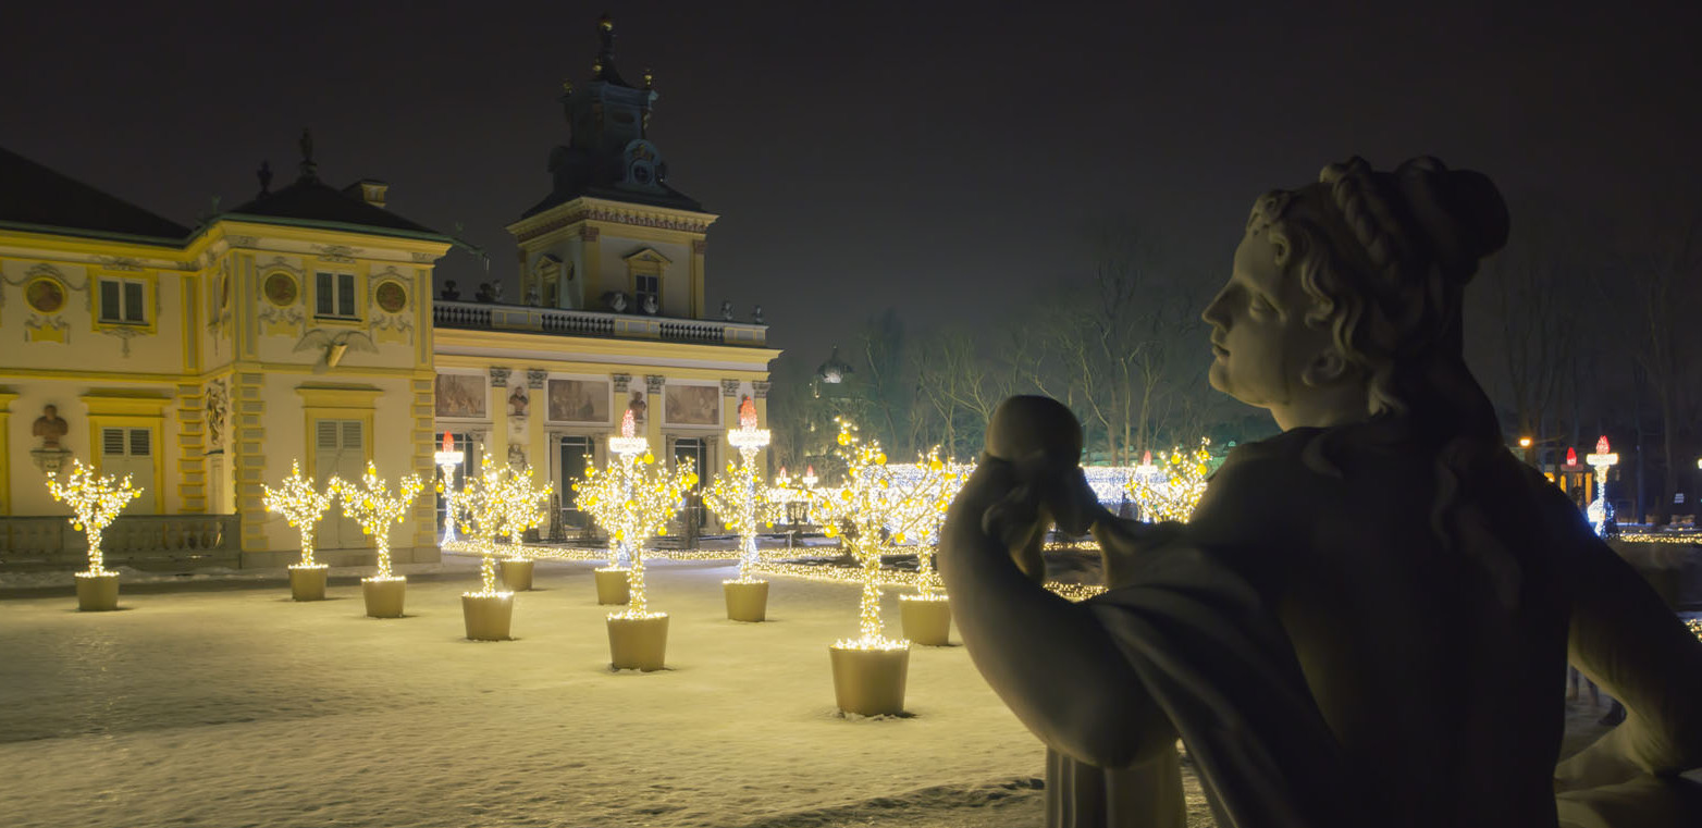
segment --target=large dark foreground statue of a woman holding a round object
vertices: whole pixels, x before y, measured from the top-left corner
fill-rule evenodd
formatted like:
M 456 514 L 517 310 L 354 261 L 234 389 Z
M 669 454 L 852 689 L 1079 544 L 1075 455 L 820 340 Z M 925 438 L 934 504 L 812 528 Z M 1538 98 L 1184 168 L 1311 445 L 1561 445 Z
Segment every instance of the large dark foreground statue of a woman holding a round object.
M 1503 445 L 1460 301 L 1508 216 L 1481 173 L 1353 158 L 1253 207 L 1210 383 L 1283 434 L 1188 524 L 1105 512 L 1074 417 L 994 415 L 941 530 L 963 644 L 1047 745 L 1052 826 L 1702 825 L 1702 644 Z M 1202 350 L 1207 343 L 1202 343 Z M 1038 585 L 1048 524 L 1108 590 Z M 1571 661 L 1627 719 L 1564 763 Z

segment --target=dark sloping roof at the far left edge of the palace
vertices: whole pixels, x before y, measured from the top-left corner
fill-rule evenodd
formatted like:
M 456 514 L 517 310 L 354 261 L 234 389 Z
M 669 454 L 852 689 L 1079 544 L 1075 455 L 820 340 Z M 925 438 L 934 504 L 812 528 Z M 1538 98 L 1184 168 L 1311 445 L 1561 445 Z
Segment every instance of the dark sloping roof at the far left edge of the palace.
M 0 223 L 182 243 L 189 228 L 0 148 Z

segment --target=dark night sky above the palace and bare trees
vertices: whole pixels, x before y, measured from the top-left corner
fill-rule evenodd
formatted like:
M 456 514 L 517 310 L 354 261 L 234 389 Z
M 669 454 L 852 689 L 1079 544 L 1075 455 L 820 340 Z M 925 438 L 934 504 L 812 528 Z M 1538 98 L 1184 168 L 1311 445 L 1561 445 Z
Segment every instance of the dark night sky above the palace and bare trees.
M 825 355 L 888 304 L 1001 318 L 1084 275 L 1108 218 L 1219 281 L 1254 196 L 1348 155 L 1484 170 L 1515 235 L 1556 197 L 1693 201 L 1699 3 L 1503 5 L 12 3 L 0 145 L 192 223 L 262 158 L 293 179 L 310 126 L 322 179 L 388 180 L 512 296 L 502 228 L 548 190 L 608 9 L 669 182 L 722 216 L 710 306 Z

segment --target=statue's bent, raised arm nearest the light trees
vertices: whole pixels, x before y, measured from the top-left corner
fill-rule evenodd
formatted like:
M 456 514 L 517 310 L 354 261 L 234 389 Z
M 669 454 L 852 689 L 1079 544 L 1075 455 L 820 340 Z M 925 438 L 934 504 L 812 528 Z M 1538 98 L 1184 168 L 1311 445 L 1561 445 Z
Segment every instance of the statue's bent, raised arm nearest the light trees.
M 1125 767 L 1173 750 L 1176 731 L 1105 627 L 984 530 L 987 507 L 1013 488 L 1013 468 L 984 459 L 940 532 L 940 575 L 975 666 L 1035 736 L 1081 762 Z

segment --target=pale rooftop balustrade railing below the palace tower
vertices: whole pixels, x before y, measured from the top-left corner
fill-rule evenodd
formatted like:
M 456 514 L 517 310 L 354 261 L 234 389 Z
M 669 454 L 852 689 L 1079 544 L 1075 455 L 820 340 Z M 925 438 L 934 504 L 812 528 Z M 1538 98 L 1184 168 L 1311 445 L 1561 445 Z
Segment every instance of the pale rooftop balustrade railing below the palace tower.
M 674 320 L 631 313 L 567 311 L 523 304 L 488 304 L 437 299 L 432 323 L 439 328 L 516 330 L 567 337 L 648 338 L 710 345 L 766 345 L 768 325 Z

